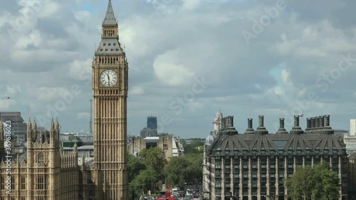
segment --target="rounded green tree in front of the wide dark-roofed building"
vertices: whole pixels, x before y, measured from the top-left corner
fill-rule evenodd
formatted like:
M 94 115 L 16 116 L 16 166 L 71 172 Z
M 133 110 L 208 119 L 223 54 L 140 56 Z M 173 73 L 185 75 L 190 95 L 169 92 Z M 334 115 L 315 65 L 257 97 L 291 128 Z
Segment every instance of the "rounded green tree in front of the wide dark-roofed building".
M 330 170 L 328 162 L 313 167 L 297 167 L 286 180 L 288 196 L 291 199 L 334 200 L 340 196 L 340 180 Z

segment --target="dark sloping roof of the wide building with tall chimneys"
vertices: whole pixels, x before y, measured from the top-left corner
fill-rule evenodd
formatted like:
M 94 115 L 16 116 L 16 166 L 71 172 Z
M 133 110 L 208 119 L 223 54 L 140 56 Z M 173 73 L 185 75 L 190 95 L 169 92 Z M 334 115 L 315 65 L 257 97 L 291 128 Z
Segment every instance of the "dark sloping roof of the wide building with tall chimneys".
M 325 122 L 329 120 L 326 116 L 328 115 L 325 115 Z M 263 116 L 260 116 L 260 119 L 261 117 L 263 118 Z M 268 134 L 268 131 L 266 134 L 260 134 L 258 130 L 238 134 L 236 130 L 231 129 L 233 122 L 230 120 L 229 124 L 228 121 L 226 120 L 226 127 L 222 127 L 219 136 L 209 147 L 208 154 L 214 155 L 216 152 L 226 154 L 226 151 L 229 151 L 229 155 L 234 155 L 236 151 L 261 152 L 262 150 L 274 150 L 274 152 L 278 153 L 280 150 L 283 150 L 283 152 L 305 151 L 306 149 L 311 151 L 315 149 L 320 149 L 320 151 L 324 149 L 345 150 L 340 140 L 333 134 L 333 130 L 328 126 L 328 123 L 323 127 L 308 127 L 305 132 L 300 129 L 297 122 L 295 127 L 301 130 L 298 132 L 295 132 L 296 128 L 293 127 L 290 133 L 287 132 L 286 134 Z M 263 120 L 259 127 L 263 127 Z M 284 128 L 284 122 L 281 124 L 281 128 Z

